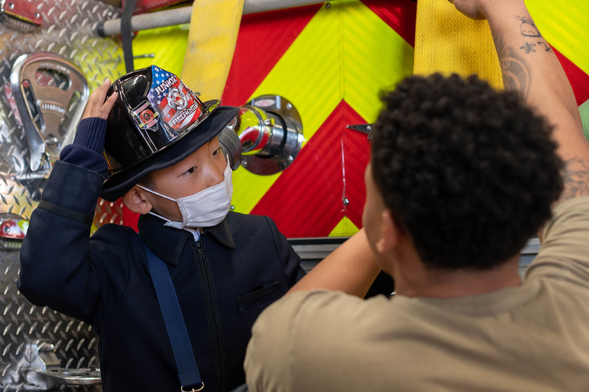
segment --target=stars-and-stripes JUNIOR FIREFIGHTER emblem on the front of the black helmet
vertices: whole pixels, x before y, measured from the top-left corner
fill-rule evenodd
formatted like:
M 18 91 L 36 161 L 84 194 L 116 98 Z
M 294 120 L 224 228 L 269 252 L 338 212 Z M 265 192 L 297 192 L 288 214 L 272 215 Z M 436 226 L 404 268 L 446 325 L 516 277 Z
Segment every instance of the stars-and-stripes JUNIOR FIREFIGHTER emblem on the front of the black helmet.
M 151 66 L 151 90 L 147 99 L 175 131 L 183 131 L 203 113 L 194 93 L 176 75 L 155 65 Z

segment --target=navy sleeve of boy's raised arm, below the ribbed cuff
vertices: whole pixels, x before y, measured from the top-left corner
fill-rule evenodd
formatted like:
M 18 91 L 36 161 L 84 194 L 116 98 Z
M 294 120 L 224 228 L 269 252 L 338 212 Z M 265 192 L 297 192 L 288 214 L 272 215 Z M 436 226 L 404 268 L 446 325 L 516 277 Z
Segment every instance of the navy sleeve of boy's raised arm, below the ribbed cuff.
M 20 253 L 21 293 L 35 305 L 87 323 L 101 318 L 124 292 L 128 239 L 137 236 L 129 227 L 104 225 L 90 237 L 90 224 L 58 212 L 61 208 L 91 218 L 103 181 L 96 172 L 55 162 L 42 200 L 57 212 L 35 208 Z

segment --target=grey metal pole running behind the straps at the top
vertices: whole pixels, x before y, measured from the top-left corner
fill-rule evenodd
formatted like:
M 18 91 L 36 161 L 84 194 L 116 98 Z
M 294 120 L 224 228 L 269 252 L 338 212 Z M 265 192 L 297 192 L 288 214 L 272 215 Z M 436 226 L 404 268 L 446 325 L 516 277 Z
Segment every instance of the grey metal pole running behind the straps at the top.
M 275 9 L 293 8 L 317 3 L 319 3 L 317 0 L 246 0 L 243 4 L 243 14 L 256 14 L 257 12 L 274 11 Z M 192 6 L 135 15 L 131 18 L 131 31 L 190 23 L 191 14 Z M 121 34 L 121 19 L 111 19 L 110 21 L 99 24 L 97 33 L 100 36 Z

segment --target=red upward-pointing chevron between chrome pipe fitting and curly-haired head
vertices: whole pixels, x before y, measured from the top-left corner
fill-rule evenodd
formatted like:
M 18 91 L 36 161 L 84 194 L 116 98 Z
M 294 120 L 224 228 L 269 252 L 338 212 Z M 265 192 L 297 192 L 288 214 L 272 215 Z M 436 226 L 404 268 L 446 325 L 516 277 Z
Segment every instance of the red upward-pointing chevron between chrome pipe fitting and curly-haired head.
M 342 100 L 251 213 L 271 217 L 286 237 L 326 236 L 344 215 L 362 227 L 370 145 L 365 134 L 345 127 L 365 122 Z M 342 196 L 348 198 L 347 206 Z

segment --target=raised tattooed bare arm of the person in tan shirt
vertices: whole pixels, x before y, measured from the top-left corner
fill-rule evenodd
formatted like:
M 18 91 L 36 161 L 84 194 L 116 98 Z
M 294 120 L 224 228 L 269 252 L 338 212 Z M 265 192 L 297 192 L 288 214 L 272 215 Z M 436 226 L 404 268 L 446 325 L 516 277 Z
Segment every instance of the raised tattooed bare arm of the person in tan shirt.
M 589 143 L 573 89 L 524 1 L 450 1 L 469 18 L 489 21 L 505 88 L 517 90 L 554 126 L 558 154 L 566 164 L 560 202 L 589 195 Z

